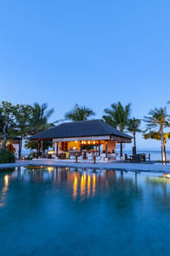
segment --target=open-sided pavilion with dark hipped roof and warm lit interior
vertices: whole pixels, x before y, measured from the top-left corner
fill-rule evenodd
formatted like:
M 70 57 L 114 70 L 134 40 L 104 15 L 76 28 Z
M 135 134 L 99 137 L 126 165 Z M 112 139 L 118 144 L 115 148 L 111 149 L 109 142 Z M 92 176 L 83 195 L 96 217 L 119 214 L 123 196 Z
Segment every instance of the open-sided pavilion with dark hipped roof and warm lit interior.
M 49 128 L 27 139 L 38 141 L 38 152 L 41 151 L 42 141 L 53 142 L 54 156 L 68 158 L 74 153 L 82 154 L 84 149 L 91 145 L 97 156 L 100 156 L 101 147 L 108 153 L 116 151 L 116 143 L 131 143 L 132 137 L 112 128 L 100 119 L 64 122 L 54 128 Z

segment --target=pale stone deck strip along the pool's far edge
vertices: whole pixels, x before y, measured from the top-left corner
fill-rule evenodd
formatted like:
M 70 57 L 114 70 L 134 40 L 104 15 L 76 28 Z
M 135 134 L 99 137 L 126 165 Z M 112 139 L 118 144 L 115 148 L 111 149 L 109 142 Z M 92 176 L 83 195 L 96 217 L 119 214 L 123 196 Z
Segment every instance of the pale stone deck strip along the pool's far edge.
M 150 163 L 126 163 L 126 162 L 62 162 L 53 159 L 37 159 L 37 160 L 20 160 L 15 163 L 1 163 L 0 168 L 14 168 L 22 166 L 59 166 L 70 168 L 89 168 L 89 169 L 103 169 L 103 170 L 127 170 L 127 171 L 141 171 L 153 173 L 169 173 L 170 164 L 150 164 Z

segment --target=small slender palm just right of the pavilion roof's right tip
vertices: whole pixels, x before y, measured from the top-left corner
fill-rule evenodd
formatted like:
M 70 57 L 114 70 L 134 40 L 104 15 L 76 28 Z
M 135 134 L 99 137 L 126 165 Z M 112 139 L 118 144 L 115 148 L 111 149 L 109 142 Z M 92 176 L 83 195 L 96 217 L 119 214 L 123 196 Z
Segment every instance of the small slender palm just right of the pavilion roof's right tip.
M 133 117 L 132 119 L 128 119 L 127 122 L 127 130 L 133 134 L 133 142 L 134 142 L 134 154 L 136 154 L 136 133 L 141 133 L 142 130 L 140 127 L 140 119 Z

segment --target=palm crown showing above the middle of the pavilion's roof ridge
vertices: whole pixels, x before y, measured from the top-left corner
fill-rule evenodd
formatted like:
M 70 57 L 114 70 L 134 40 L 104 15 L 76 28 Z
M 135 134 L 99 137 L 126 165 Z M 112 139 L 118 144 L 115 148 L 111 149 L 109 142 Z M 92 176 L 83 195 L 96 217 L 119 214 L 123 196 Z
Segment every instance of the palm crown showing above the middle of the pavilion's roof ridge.
M 93 110 L 89 109 L 86 106 L 75 105 L 72 111 L 69 111 L 65 114 L 65 119 L 71 121 L 85 121 L 88 120 L 88 117 L 94 116 L 95 113 Z

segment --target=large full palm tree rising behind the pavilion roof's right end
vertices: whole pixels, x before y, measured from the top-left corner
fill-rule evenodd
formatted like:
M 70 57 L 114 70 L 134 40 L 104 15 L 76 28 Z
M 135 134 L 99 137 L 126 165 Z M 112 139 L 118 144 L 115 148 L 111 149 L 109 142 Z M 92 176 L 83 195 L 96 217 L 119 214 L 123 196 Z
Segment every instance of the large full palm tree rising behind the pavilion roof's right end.
M 130 104 L 125 107 L 121 102 L 112 104 L 111 108 L 105 109 L 103 119 L 106 123 L 114 128 L 118 128 L 121 132 L 127 127 L 128 117 L 130 115 Z M 122 142 L 120 147 L 120 158 L 122 158 Z

